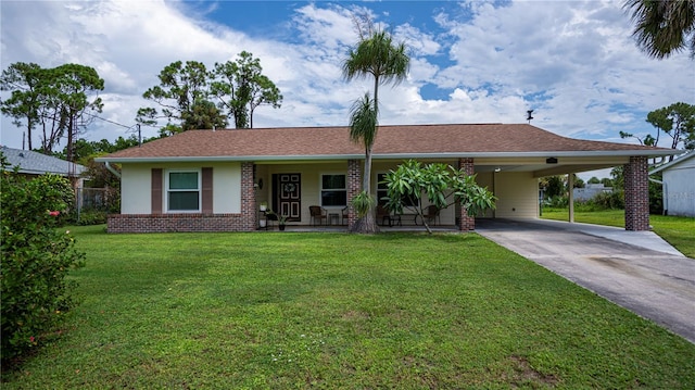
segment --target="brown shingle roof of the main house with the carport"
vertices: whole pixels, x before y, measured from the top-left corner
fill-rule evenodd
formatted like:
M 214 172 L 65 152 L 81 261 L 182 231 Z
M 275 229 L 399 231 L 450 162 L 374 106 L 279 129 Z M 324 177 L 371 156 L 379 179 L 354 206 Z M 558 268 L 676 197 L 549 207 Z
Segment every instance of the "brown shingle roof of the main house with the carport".
M 191 130 L 130 148 L 99 161 L 220 158 L 277 160 L 357 158 L 364 148 L 349 138 L 348 127 L 289 127 L 244 130 Z M 380 126 L 375 158 L 404 155 L 510 155 L 554 153 L 583 155 L 664 155 L 662 148 L 561 137 L 527 124 Z

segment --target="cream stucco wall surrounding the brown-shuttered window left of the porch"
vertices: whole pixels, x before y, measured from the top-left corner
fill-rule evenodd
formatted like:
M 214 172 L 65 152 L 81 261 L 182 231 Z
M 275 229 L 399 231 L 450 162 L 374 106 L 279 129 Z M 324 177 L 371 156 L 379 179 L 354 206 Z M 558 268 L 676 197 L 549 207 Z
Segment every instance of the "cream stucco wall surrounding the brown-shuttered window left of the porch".
M 179 163 L 179 164 L 123 164 L 121 178 L 121 213 L 152 213 L 152 168 L 200 169 L 213 168 L 213 213 L 241 212 L 241 164 L 240 163 Z M 166 209 L 166 190 L 162 191 L 162 204 Z M 166 212 L 166 210 L 164 210 Z

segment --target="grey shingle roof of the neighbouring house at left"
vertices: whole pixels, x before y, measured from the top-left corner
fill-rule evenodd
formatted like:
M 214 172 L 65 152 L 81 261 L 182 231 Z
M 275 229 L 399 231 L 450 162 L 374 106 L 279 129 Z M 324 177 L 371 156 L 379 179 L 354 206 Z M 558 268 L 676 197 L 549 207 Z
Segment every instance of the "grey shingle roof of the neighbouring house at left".
M 51 155 L 41 154 L 30 150 L 12 149 L 0 147 L 2 154 L 8 158 L 11 167 L 20 166 L 20 173 L 28 175 L 55 174 L 70 176 L 71 172 L 79 176 L 86 168 L 83 165 L 74 164 L 71 169 L 70 162 L 56 159 Z

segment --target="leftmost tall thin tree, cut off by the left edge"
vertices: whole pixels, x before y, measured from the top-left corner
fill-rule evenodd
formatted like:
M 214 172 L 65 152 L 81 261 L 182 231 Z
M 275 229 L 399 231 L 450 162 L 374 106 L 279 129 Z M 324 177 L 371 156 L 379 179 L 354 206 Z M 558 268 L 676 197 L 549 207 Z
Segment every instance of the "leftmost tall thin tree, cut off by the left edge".
M 12 96 L 0 102 L 3 114 L 14 118 L 12 123 L 26 129 L 29 150 L 33 146 L 31 131 L 39 123 L 39 93 L 41 67 L 35 63 L 16 62 L 2 71 L 0 90 L 12 91 Z

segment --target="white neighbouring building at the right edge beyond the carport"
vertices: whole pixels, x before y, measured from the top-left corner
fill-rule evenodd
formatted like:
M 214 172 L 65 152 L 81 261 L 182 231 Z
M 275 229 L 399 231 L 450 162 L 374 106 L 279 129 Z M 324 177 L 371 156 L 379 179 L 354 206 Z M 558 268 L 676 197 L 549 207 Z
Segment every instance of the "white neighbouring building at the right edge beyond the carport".
M 664 183 L 664 212 L 695 217 L 695 152 L 660 165 L 649 175 L 659 172 Z

